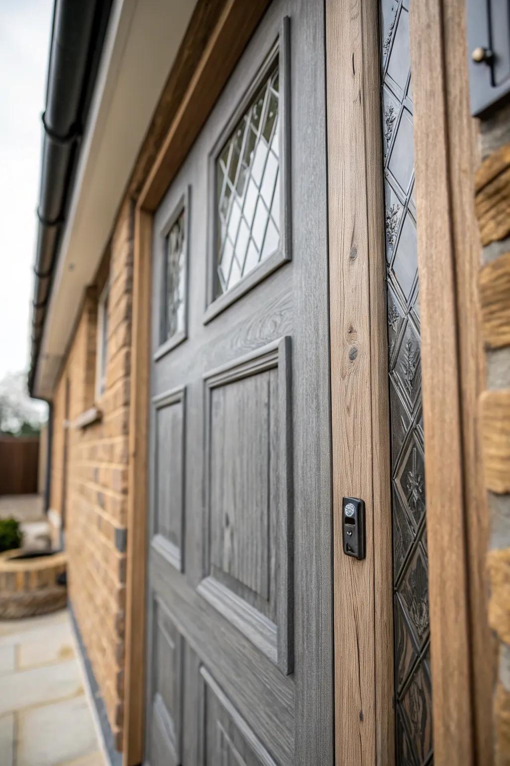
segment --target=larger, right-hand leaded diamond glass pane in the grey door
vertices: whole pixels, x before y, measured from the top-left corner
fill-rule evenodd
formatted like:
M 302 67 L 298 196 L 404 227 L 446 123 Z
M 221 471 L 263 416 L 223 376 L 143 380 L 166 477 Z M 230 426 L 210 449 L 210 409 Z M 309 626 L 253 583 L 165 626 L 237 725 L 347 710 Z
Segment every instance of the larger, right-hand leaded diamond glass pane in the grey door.
M 278 250 L 279 170 L 276 66 L 216 161 L 216 296 Z

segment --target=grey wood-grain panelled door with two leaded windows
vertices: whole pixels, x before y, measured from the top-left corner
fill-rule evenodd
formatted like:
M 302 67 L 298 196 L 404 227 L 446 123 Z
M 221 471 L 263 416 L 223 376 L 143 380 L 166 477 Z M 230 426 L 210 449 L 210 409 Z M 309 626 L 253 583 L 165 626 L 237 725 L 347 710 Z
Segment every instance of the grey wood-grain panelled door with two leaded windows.
M 323 23 L 274 0 L 154 217 L 151 766 L 333 764 Z

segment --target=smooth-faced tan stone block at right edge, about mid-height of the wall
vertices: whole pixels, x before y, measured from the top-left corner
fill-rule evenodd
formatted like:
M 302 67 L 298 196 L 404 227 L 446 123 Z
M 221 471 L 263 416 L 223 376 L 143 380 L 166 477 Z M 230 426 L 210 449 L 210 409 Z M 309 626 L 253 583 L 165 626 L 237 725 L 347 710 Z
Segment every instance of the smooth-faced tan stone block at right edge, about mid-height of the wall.
M 486 487 L 510 492 L 510 389 L 484 391 L 480 397 L 480 431 Z

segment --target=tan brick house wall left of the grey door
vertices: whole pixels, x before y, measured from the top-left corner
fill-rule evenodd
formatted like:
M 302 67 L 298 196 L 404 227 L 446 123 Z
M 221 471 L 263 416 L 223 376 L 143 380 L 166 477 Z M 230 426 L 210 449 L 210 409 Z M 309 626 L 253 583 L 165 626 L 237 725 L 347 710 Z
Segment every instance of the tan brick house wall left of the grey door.
M 108 271 L 106 388 L 95 401 L 97 300 Z M 122 746 L 123 719 L 131 308 L 132 205 L 126 201 L 96 284 L 84 296 L 80 320 L 54 392 L 50 502 L 50 507 L 60 514 L 68 379 L 68 586 L 118 749 Z M 76 427 L 73 421 L 94 405 L 102 413 L 101 420 Z

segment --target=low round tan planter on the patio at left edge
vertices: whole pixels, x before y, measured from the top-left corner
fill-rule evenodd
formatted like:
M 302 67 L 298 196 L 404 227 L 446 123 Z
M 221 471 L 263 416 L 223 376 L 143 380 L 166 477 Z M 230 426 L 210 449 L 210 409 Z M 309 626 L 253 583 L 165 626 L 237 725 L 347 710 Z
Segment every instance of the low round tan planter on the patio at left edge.
M 23 558 L 31 555 L 24 548 L 0 554 L 0 619 L 47 614 L 66 605 L 66 586 L 57 582 L 66 571 L 66 554 Z

